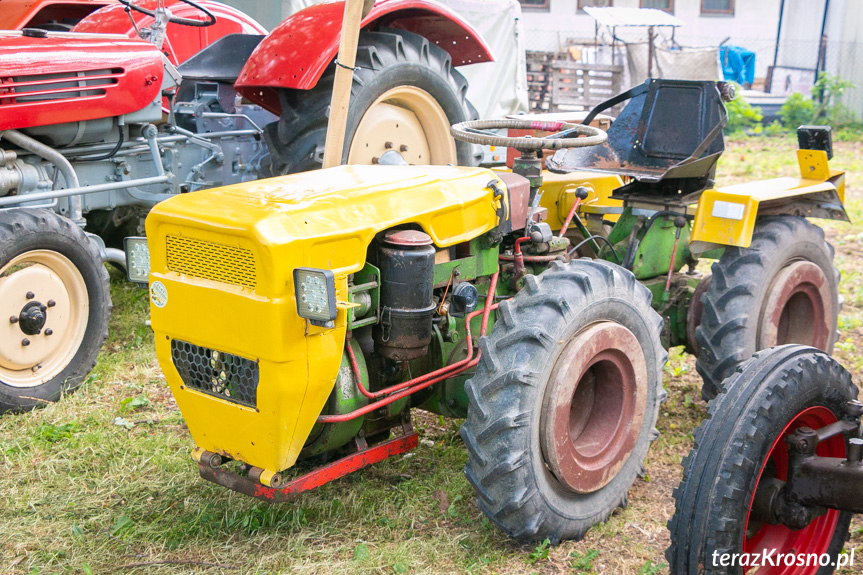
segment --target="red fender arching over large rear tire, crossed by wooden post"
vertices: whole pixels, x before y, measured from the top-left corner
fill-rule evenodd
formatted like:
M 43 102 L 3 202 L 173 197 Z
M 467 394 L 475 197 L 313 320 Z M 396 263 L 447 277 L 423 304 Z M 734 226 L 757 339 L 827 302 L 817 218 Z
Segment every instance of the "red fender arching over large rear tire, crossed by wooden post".
M 274 114 L 278 88 L 308 90 L 338 54 L 344 2 L 316 4 L 279 24 L 252 52 L 234 87 Z M 452 56 L 454 66 L 491 62 L 491 50 L 461 16 L 429 0 L 380 0 L 362 28 L 380 26 L 420 34 Z

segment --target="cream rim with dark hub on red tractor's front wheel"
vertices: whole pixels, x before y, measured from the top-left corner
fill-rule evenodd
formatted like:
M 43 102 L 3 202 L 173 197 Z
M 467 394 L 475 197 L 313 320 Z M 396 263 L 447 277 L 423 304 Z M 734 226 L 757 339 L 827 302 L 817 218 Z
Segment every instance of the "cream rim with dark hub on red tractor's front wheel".
M 75 356 L 89 316 L 87 285 L 65 256 L 25 252 L 0 268 L 0 381 L 36 387 Z

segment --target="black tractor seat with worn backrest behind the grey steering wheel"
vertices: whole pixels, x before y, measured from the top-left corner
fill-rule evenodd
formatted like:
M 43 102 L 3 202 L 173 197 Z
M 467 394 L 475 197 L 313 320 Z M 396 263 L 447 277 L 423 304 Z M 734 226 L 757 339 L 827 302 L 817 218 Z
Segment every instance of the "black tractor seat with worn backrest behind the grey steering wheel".
M 715 82 L 649 79 L 594 108 L 585 118 L 629 100 L 599 146 L 558 150 L 546 161 L 552 172 L 592 171 L 631 176 L 646 183 L 704 179 L 725 144 L 725 106 Z

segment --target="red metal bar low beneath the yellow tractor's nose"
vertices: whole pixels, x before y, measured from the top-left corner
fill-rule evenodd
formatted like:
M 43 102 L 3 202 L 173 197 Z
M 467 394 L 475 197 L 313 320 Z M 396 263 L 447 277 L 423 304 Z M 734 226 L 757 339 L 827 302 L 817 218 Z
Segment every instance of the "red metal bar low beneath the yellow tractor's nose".
M 319 467 L 314 471 L 310 471 L 305 475 L 301 475 L 278 487 L 268 487 L 249 477 L 220 467 L 212 467 L 205 458 L 201 458 L 201 461 L 198 463 L 198 471 L 202 478 L 213 483 L 218 483 L 222 487 L 227 487 L 238 493 L 270 503 L 281 503 L 282 501 L 287 501 L 292 495 L 310 491 L 325 483 L 358 471 L 363 467 L 368 467 L 394 455 L 415 449 L 419 443 L 419 436 L 410 424 L 406 424 L 403 427 L 403 435 L 372 447 L 368 447 L 365 440 L 358 438 L 358 450 L 356 452 L 323 467 Z

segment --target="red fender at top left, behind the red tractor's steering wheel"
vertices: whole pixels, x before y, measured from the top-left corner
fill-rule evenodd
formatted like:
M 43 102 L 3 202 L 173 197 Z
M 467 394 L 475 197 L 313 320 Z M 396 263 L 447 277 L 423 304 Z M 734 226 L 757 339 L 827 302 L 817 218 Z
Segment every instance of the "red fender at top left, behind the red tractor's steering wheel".
M 136 2 L 142 8 L 155 10 L 156 0 L 138 0 Z M 203 20 L 203 14 L 192 6 L 179 2 L 178 0 L 167 0 L 168 8 L 174 16 L 180 18 L 191 18 Z M 163 49 L 168 59 L 174 65 L 181 64 L 206 48 L 219 38 L 228 34 L 266 34 L 267 29 L 258 24 L 253 18 L 240 12 L 235 8 L 226 6 L 212 0 L 199 0 L 198 4 L 209 10 L 216 17 L 216 23 L 206 28 L 191 28 L 180 24 L 168 24 Z M 153 18 L 140 12 L 131 12 L 135 18 L 138 28 L 149 26 Z M 87 32 L 96 34 L 123 34 L 130 38 L 137 38 L 138 33 L 129 20 L 122 4 L 105 6 L 78 23 L 73 32 Z

